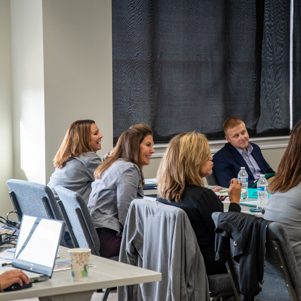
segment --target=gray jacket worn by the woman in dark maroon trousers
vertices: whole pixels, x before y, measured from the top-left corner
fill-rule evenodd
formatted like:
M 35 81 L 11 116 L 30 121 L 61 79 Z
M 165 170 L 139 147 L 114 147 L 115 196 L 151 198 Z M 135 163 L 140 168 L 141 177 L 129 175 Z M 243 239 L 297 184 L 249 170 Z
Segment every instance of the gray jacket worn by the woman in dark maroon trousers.
M 138 166 L 119 159 L 92 183 L 88 210 L 95 228 L 109 228 L 121 236 L 132 200 L 143 198 Z

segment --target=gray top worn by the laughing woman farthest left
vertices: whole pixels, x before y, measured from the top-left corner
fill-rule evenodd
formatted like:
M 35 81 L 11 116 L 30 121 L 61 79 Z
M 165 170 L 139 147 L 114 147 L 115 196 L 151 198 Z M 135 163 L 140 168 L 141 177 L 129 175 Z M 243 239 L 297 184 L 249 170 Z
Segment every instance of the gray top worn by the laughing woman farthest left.
M 85 203 L 88 203 L 92 189 L 91 183 L 94 181 L 94 172 L 100 163 L 101 158 L 93 152 L 85 153 L 80 157 L 73 157 L 70 161 L 66 162 L 63 168 L 55 169 L 47 186 L 50 187 L 57 201 L 60 198 L 54 187 L 61 185 L 79 193 L 85 200 Z

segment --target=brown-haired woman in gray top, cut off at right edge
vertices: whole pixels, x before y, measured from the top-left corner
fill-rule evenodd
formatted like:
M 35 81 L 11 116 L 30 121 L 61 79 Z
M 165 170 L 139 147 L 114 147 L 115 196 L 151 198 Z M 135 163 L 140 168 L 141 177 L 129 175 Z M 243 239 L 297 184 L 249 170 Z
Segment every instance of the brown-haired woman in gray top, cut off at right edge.
M 281 223 L 301 271 L 301 120 L 294 126 L 275 177 L 264 218 Z

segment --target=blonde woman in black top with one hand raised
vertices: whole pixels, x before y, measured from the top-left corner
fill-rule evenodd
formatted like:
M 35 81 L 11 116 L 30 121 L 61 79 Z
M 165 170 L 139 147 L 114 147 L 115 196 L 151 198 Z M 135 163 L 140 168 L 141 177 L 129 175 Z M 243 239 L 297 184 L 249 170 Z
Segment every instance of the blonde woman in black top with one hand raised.
M 223 212 L 224 206 L 211 190 L 204 187 L 203 177 L 212 173 L 209 143 L 196 132 L 176 135 L 169 141 L 157 173 L 157 201 L 182 208 L 188 215 L 204 257 L 207 275 L 227 273 L 225 264 L 215 261 L 215 225 L 211 215 Z M 231 180 L 229 211 L 240 212 L 241 183 Z

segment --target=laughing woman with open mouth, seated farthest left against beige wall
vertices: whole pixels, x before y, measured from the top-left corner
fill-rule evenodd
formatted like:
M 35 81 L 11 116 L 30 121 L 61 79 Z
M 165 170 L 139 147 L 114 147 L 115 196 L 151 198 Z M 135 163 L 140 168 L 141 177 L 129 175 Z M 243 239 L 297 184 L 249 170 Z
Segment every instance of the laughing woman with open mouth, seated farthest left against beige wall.
M 96 154 L 101 149 L 101 138 L 94 120 L 77 120 L 71 124 L 53 159 L 55 170 L 47 184 L 56 200 L 59 197 L 54 187 L 62 185 L 78 192 L 88 203 L 94 172 L 101 163 Z

